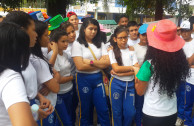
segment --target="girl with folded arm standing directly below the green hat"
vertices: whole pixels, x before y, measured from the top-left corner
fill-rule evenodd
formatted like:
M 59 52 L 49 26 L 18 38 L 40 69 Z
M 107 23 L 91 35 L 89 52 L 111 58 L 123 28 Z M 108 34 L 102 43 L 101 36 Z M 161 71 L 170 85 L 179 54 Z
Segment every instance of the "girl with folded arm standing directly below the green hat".
M 64 50 L 68 47 L 68 34 L 63 29 L 56 29 L 51 33 L 50 40 L 58 44 L 58 55 L 54 69 L 60 74 L 60 91 L 57 94 L 56 112 L 60 118 L 61 126 L 73 126 L 73 76 L 71 75 L 71 62 Z M 50 53 L 49 53 L 50 54 Z

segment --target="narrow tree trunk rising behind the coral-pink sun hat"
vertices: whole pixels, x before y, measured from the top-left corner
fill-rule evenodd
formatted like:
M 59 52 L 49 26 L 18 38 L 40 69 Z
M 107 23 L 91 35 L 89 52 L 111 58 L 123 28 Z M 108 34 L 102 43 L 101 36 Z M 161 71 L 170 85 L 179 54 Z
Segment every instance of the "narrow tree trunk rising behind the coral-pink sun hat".
M 156 0 L 155 21 L 162 20 L 163 12 L 164 10 L 162 0 Z

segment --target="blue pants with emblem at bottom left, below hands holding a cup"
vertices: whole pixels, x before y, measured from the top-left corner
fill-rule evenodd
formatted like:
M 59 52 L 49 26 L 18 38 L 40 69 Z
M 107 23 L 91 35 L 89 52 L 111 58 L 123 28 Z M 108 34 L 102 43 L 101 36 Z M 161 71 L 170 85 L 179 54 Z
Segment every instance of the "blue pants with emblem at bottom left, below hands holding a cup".
M 38 126 L 56 126 L 55 112 L 51 113 L 47 118 L 37 121 Z

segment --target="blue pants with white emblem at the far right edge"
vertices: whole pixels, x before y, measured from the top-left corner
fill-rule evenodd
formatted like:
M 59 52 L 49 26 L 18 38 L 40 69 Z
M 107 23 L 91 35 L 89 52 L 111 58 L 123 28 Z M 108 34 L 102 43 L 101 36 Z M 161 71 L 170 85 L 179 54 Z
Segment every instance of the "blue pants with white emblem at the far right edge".
M 186 88 L 186 104 L 185 104 L 184 125 L 194 126 L 194 117 L 192 117 L 192 108 L 194 103 L 194 85 L 186 83 L 185 88 Z

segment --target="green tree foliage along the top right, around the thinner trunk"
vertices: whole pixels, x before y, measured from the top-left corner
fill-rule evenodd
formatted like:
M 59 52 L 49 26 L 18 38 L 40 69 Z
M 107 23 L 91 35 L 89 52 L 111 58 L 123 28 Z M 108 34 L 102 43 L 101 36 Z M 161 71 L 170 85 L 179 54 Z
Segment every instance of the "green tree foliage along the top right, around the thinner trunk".
M 126 13 L 130 17 L 136 17 L 137 14 L 154 16 L 156 13 L 157 1 L 160 1 L 162 3 L 163 12 L 166 11 L 169 14 L 175 15 L 179 11 L 177 5 L 180 4 L 181 0 L 118 0 L 118 4 L 127 6 Z M 192 11 L 189 8 L 189 5 L 185 4 L 181 7 L 181 13 L 179 14 L 179 16 L 188 17 L 191 15 L 191 13 Z

